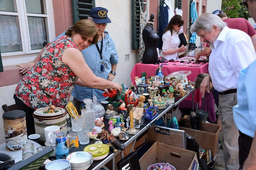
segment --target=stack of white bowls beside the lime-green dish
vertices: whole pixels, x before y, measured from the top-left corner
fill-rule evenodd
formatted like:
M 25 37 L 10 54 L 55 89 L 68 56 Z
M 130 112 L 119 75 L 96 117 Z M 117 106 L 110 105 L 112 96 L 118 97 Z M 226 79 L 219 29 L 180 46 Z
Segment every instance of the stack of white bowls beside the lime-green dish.
M 73 152 L 66 159 L 70 161 L 71 170 L 87 170 L 93 162 L 92 154 L 85 151 Z

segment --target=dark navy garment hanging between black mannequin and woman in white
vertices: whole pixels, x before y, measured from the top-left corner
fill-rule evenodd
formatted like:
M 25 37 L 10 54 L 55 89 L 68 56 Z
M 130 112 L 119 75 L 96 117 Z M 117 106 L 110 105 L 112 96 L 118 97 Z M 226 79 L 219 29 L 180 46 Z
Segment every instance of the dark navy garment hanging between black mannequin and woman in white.
M 162 36 L 164 33 L 164 29 L 168 25 L 168 6 L 162 6 L 160 5 L 160 12 L 159 12 L 159 27 L 158 27 L 158 35 L 159 35 L 159 41 L 158 41 L 158 48 L 162 49 L 163 46 L 163 40 Z

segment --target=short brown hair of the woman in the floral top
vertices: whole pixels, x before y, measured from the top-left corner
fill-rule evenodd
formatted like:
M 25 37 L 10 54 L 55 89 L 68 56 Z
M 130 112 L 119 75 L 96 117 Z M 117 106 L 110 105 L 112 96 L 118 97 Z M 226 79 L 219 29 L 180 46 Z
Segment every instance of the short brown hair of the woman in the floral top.
M 83 37 L 93 37 L 92 44 L 98 42 L 99 33 L 95 24 L 88 19 L 81 19 L 76 22 L 72 27 L 67 29 L 66 35 L 72 36 L 72 32 L 76 32 L 77 34 L 81 34 Z

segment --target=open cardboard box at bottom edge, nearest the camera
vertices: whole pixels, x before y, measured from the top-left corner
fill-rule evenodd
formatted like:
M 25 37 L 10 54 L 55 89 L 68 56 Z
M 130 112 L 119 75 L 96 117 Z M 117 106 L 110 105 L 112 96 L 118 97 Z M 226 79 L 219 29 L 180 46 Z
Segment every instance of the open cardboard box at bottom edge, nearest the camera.
M 197 170 L 198 160 L 194 151 L 155 142 L 153 146 L 139 159 L 141 170 L 155 163 L 173 165 L 176 170 Z

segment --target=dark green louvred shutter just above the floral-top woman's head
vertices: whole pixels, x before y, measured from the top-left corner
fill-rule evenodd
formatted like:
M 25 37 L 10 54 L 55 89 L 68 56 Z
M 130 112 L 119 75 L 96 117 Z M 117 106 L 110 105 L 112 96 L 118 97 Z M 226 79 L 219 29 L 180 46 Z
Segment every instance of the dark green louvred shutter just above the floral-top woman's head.
M 72 0 L 73 23 L 87 19 L 89 12 L 95 7 L 95 0 Z

